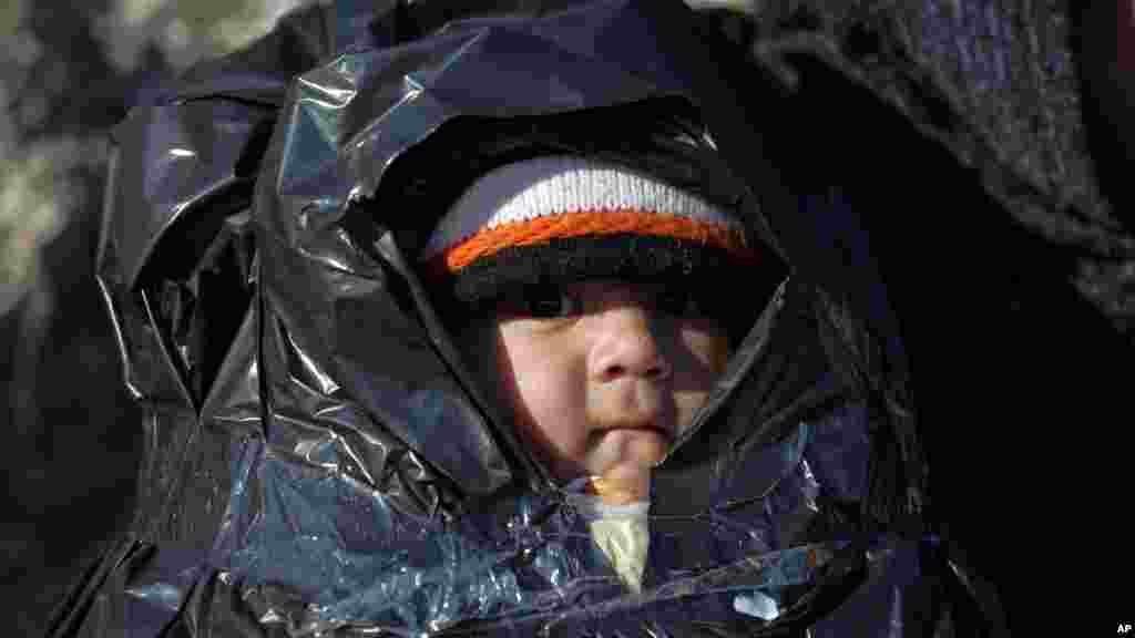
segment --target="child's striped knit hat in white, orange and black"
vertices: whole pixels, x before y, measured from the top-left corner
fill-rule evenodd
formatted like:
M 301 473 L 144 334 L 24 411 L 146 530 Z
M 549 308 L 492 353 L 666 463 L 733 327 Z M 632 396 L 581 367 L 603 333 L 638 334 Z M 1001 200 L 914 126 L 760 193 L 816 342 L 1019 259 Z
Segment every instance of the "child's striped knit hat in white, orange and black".
M 420 259 L 462 302 L 508 286 L 587 278 L 713 277 L 754 263 L 722 208 L 624 166 L 544 156 L 478 178 L 443 216 Z M 735 275 L 735 270 L 733 274 Z

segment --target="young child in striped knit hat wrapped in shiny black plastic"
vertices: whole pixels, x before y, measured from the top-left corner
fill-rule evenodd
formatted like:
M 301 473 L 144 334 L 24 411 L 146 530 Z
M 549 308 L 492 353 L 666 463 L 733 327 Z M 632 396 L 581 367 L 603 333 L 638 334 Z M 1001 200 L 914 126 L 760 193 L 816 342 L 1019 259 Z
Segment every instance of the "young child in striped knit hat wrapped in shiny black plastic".
M 792 274 L 729 65 L 680 2 L 566 5 L 309 11 L 119 127 L 100 282 L 154 454 L 60 635 L 976 618 L 903 598 L 958 581 L 903 380 Z

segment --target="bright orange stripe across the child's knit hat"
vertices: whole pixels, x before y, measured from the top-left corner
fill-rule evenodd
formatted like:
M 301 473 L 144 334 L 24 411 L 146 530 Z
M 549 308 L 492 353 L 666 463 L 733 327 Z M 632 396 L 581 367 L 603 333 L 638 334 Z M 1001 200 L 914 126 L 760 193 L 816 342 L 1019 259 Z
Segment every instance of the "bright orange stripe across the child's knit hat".
M 747 245 L 742 233 L 717 224 L 657 212 L 599 210 L 538 217 L 502 224 L 496 228 L 486 228 L 466 241 L 445 250 L 431 261 L 442 270 L 456 272 L 478 259 L 511 246 L 528 246 L 557 238 L 616 233 L 691 240 L 724 249 L 745 259 L 756 257 Z

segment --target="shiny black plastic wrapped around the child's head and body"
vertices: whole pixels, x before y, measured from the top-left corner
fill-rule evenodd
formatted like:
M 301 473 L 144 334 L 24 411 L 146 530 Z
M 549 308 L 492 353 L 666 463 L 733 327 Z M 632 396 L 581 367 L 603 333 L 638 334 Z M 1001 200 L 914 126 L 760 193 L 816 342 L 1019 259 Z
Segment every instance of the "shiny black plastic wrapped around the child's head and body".
M 134 109 L 99 280 L 148 456 L 128 534 L 56 635 L 1002 631 L 928 515 L 855 195 L 814 187 L 787 62 L 739 54 L 715 19 L 663 1 L 340 1 Z M 728 284 L 762 308 L 657 469 L 636 594 L 477 392 L 417 277 L 413 229 L 440 211 L 384 193 L 462 123 L 658 100 L 706 123 L 782 276 L 771 295 L 753 274 Z M 456 170 L 414 165 L 431 169 Z

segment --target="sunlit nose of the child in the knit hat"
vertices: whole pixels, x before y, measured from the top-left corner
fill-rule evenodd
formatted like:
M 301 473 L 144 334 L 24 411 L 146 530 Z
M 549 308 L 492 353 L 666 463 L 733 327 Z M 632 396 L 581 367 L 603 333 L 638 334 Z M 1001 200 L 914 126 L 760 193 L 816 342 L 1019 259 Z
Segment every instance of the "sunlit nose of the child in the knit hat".
M 670 363 L 651 331 L 651 316 L 640 304 L 620 304 L 596 317 L 597 334 L 589 353 L 591 376 L 599 381 L 621 377 L 663 379 Z

